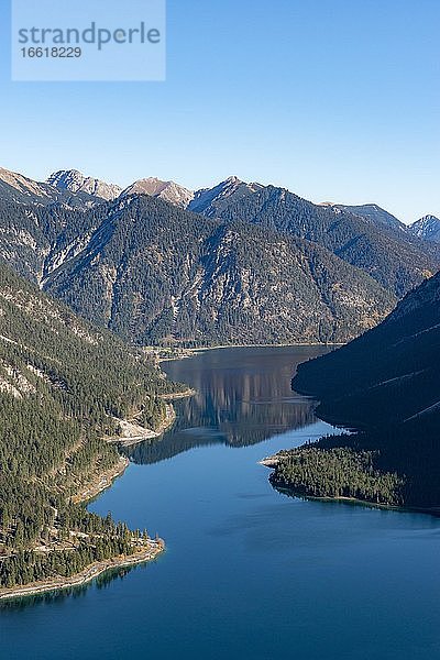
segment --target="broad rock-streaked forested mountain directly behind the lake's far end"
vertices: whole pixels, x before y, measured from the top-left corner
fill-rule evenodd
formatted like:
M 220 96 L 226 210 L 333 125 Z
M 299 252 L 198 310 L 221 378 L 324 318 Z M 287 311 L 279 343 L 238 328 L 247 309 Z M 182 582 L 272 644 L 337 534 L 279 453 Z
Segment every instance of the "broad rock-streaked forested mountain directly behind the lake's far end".
M 86 249 L 44 286 L 141 343 L 346 341 L 395 300 L 309 241 L 242 221 L 200 219 L 147 196 L 108 206 Z

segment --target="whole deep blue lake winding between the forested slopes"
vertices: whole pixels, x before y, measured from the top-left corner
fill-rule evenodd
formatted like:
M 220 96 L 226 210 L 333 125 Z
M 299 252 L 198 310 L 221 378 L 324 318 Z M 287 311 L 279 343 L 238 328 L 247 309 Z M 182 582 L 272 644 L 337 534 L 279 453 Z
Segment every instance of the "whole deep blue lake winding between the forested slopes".
M 3 605 L 1 659 L 432 660 L 440 520 L 282 495 L 262 458 L 333 432 L 290 392 L 319 349 L 228 349 L 164 365 L 195 387 L 90 509 L 167 551 L 67 595 Z

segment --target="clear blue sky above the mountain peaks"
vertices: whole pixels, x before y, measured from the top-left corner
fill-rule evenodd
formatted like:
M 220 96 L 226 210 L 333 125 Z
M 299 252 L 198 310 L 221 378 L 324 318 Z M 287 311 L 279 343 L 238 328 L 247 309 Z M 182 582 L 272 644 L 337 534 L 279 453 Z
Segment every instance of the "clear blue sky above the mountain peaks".
M 11 82 L 1 8 L 3 167 L 440 217 L 439 0 L 168 0 L 166 82 L 123 84 Z

